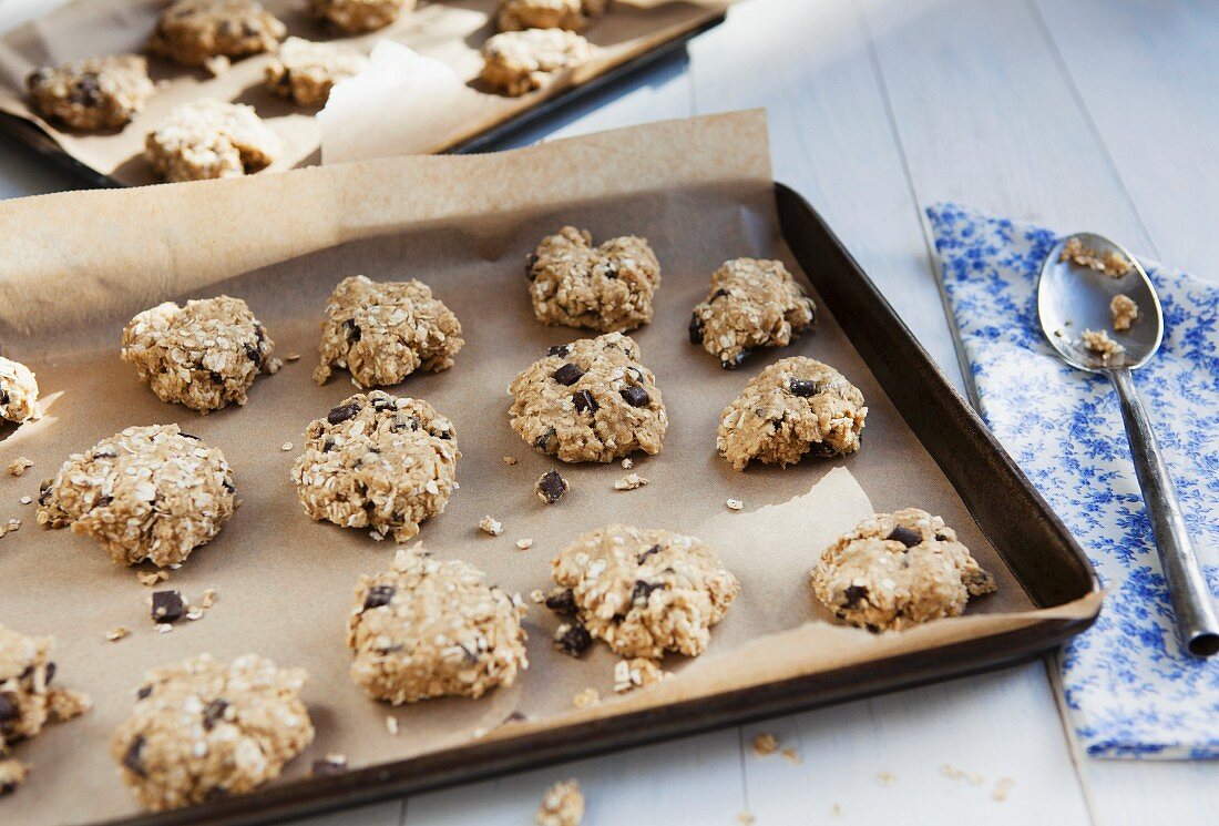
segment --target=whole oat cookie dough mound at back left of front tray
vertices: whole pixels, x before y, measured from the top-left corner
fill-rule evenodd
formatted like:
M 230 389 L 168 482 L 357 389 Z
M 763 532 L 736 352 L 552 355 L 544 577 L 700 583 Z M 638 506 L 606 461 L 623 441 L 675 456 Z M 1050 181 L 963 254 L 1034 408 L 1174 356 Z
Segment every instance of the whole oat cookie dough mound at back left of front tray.
M 275 343 L 239 298 L 158 304 L 123 328 L 123 361 L 162 401 L 207 414 L 235 403 L 260 372 L 279 370 Z

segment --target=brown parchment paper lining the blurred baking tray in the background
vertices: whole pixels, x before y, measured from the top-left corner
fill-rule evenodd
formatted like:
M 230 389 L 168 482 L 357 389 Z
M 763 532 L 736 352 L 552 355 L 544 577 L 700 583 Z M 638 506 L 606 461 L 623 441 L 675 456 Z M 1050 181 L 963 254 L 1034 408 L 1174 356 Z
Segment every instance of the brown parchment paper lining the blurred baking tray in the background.
M 433 123 L 433 113 L 461 111 L 460 122 L 445 121 L 433 129 L 412 129 L 395 140 L 395 151 L 427 154 L 447 149 L 507 121 L 572 85 L 581 84 L 638 57 L 658 45 L 696 29 L 722 13 L 730 0 L 616 0 L 608 13 L 585 35 L 599 46 L 596 56 L 569 73 L 556 77 L 544 89 L 522 98 L 503 98 L 483 89 L 474 78 L 483 66 L 483 43 L 495 33 L 496 0 L 449 0 L 421 2 L 394 24 L 358 37 L 336 37 L 310 18 L 306 4 L 297 0 L 262 0 L 288 27 L 289 35 L 308 40 L 343 40 L 361 51 L 380 40 L 410 46 L 424 57 L 447 67 L 457 88 L 438 84 L 433 90 L 395 99 L 400 121 Z M 283 156 L 269 171 L 301 163 L 316 163 L 321 131 L 316 110 L 302 109 L 275 98 L 263 87 L 268 55 L 235 61 L 219 77 L 204 70 L 179 66 L 162 57 L 149 57 L 149 73 L 162 88 L 126 128 L 112 133 L 79 133 L 49 123 L 30 111 L 26 77 L 35 68 L 66 60 L 115 54 L 143 52 L 157 15 L 169 0 L 73 0 L 46 16 L 20 26 L 0 37 L 0 112 L 29 121 L 67 155 L 115 181 L 138 185 L 156 178 L 144 160 L 144 137 L 176 106 L 199 98 L 217 98 L 254 106 L 284 139 Z M 469 83 L 469 87 L 462 84 Z M 343 121 L 332 117 L 332 131 L 341 132 Z M 363 128 L 352 123 L 352 129 Z M 341 159 L 340 159 L 341 160 Z

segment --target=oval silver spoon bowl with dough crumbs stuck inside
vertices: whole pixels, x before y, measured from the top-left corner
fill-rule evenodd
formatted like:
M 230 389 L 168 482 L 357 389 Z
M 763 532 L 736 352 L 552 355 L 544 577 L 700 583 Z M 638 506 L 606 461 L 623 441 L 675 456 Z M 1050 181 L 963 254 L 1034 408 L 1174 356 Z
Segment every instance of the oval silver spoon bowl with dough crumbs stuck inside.
M 1115 278 L 1070 259 L 1063 260 L 1063 249 L 1072 239 L 1098 256 L 1125 261 L 1128 272 Z M 1130 329 L 1113 329 L 1109 303 L 1115 295 L 1126 295 L 1139 307 Z M 1041 331 L 1058 355 L 1070 366 L 1093 373 L 1114 367 L 1142 367 L 1156 355 L 1164 337 L 1164 314 L 1147 272 L 1124 246 L 1090 232 L 1063 238 L 1050 250 L 1037 279 L 1037 316 Z M 1106 361 L 1084 345 L 1085 329 L 1106 331 L 1124 350 Z

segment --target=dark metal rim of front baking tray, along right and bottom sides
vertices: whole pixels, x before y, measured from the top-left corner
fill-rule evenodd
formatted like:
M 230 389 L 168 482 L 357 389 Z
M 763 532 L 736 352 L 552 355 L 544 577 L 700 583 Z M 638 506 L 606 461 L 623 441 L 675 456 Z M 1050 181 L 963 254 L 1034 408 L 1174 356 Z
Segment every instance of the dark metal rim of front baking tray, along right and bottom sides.
M 865 301 L 878 312 L 886 314 L 891 332 L 906 345 L 906 357 L 918 362 L 939 377 L 935 393 L 944 394 L 948 404 L 957 405 L 964 427 L 972 436 L 989 445 L 1000 465 L 1011 476 L 1009 482 L 1023 489 L 1030 503 L 1040 508 L 1037 516 L 1062 543 L 1061 550 L 1074 556 L 1079 567 L 1075 597 L 1100 591 L 1100 581 L 1078 543 L 1054 516 L 1031 482 L 1007 455 L 978 414 L 957 393 L 931 356 L 918 343 L 892 306 L 873 284 L 829 226 L 794 189 L 775 183 L 775 199 L 784 240 L 791 232 L 818 232 L 836 250 L 840 264 L 857 283 Z M 795 227 L 794 223 L 798 223 Z M 795 254 L 795 250 L 792 250 Z M 797 260 L 800 256 L 797 255 Z M 809 272 L 801 261 L 802 268 Z M 823 301 L 825 294 L 818 290 Z M 831 307 L 833 309 L 833 307 Z M 844 332 L 845 328 L 844 328 Z M 852 344 L 856 344 L 852 338 Z M 861 351 L 861 356 L 868 361 Z M 868 361 L 869 367 L 872 362 Z M 878 381 L 880 381 L 878 376 Z M 883 384 L 884 387 L 884 384 Z M 889 392 L 889 388 L 885 388 Z M 896 400 L 895 400 L 895 404 Z M 900 409 L 900 406 L 898 406 Z M 904 417 L 904 414 L 903 414 Z M 915 433 L 917 434 L 917 433 Z M 933 459 L 939 459 L 922 437 Z M 947 469 L 953 487 L 957 487 Z M 985 530 L 985 528 L 984 528 Z M 996 551 L 1006 554 L 1000 544 Z M 1015 573 L 1015 571 L 1013 571 Z M 1022 582 L 1023 584 L 1023 582 Z M 1030 598 L 1035 599 L 1030 593 Z M 869 663 L 853 664 L 830 671 L 791 677 L 770 683 L 720 692 L 663 706 L 629 711 L 591 721 L 579 721 L 518 737 L 503 737 L 467 745 L 421 754 L 406 760 L 356 769 L 323 778 L 302 778 L 271 788 L 208 803 L 207 805 L 165 813 L 140 814 L 106 821 L 85 821 L 88 826 L 252 826 L 295 817 L 366 805 L 405 794 L 434 791 L 447 786 L 489 780 L 496 776 L 536 769 L 564 760 L 688 737 L 700 732 L 766 717 L 792 714 L 835 703 L 862 699 L 894 691 L 959 678 L 1008 667 L 1050 653 L 1070 637 L 1095 622 L 1100 606 L 1090 616 L 1079 619 L 1047 617 L 1028 626 L 970 639 L 958 641 L 922 652 L 911 652 Z

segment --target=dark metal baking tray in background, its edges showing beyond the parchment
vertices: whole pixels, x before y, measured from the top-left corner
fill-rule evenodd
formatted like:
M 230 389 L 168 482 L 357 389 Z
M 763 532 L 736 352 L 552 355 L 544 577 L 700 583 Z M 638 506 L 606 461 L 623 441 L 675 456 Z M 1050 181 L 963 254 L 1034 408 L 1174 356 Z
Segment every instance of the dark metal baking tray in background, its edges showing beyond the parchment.
M 569 87 L 555 96 L 540 101 L 531 109 L 527 109 L 502 123 L 492 126 L 472 138 L 450 146 L 441 154 L 483 153 L 497 149 L 503 142 L 511 140 L 514 135 L 519 135 L 524 129 L 528 129 L 529 127 L 542 121 L 553 118 L 564 110 L 569 110 L 579 101 L 586 100 L 592 95 L 610 89 L 611 87 L 624 84 L 634 78 L 638 78 L 663 60 L 685 51 L 686 44 L 691 38 L 719 26 L 724 22 L 724 17 L 725 16 L 720 13 L 711 20 L 707 20 L 697 27 L 678 34 L 672 40 L 666 40 L 651 51 L 646 51 L 631 60 L 613 66 L 601 74 L 590 78 L 585 83 Z M 29 121 L 0 112 L 0 129 L 29 149 L 34 150 L 38 155 L 41 155 L 51 166 L 78 177 L 90 187 L 115 188 L 124 185 L 118 181 L 115 181 L 112 177 L 102 174 L 89 165 L 83 163 L 63 153 L 63 150 L 61 150 L 45 132 Z

